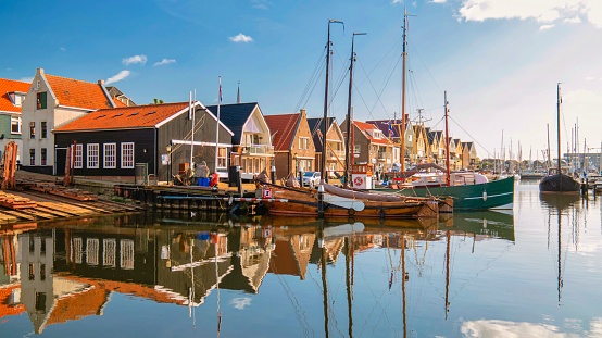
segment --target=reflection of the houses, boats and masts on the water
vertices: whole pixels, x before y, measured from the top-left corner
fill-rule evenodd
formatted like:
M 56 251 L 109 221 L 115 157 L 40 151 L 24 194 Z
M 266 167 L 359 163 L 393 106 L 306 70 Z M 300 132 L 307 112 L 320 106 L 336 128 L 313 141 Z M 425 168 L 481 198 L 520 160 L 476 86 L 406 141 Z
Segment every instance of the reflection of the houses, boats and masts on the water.
M 451 251 L 457 249 L 457 242 L 452 246 L 454 238 L 468 242 L 473 253 L 477 242 L 488 239 L 512 245 L 514 218 L 507 214 L 477 212 L 435 221 L 387 223 L 354 220 L 326 223 L 290 217 L 236 222 L 206 215 L 147 213 L 96 217 L 79 221 L 77 225 L 65 222 L 29 225 L 2 234 L 0 321 L 26 312 L 34 333 L 41 334 L 51 325 L 103 315 L 112 296 L 121 293 L 187 306 L 192 327 L 197 325 L 197 311 L 211 308 L 218 335 L 224 311 L 220 308 L 221 290 L 238 292 L 230 304 L 242 310 L 251 301 L 243 295 L 260 293 L 266 276 L 275 276 L 289 298 L 300 288 L 291 286 L 289 277 L 301 283 L 313 280 L 308 280 L 310 284 L 303 292 L 313 290 L 313 295 L 322 298 L 325 335 L 338 329 L 340 323 L 347 323 L 347 335 L 352 337 L 354 329 L 363 331 L 366 327 L 366 323 L 361 323 L 358 328 L 354 317 L 363 318 L 364 306 L 377 301 L 371 301 L 372 297 L 366 298 L 363 291 L 355 292 L 355 260 L 363 253 L 382 252 L 387 263 L 379 262 L 381 271 L 377 273 L 387 283 L 381 292 L 400 289 L 403 320 L 399 329 L 406 336 L 410 331 L 406 317 L 412 317 L 406 299 L 413 296 L 406 287 L 416 266 L 419 273 L 414 278 L 419 279 L 428 275 L 429 268 L 432 271 L 442 264 L 444 278 L 435 281 L 430 275 L 427 280 L 444 284 L 441 302 L 448 316 L 453 293 L 450 288 L 453 259 L 450 258 L 454 255 Z M 429 243 L 439 242 L 444 243 L 444 256 L 427 256 Z M 344 258 L 343 274 L 337 267 L 341 258 Z M 428 262 L 427 258 L 434 261 Z M 412 266 L 409 268 L 407 264 Z M 322 283 L 314 278 L 317 276 L 313 271 L 319 273 Z M 339 292 L 340 286 L 331 290 L 334 284 L 338 285 L 339 276 L 344 296 Z M 362 275 L 363 280 L 366 278 L 380 277 Z M 321 290 L 314 293 L 316 286 Z M 211 295 L 216 304 L 206 304 Z M 339 309 L 335 302 L 339 297 L 343 297 L 340 303 L 346 309 Z M 304 300 L 296 301 L 301 304 Z M 354 306 L 354 302 L 361 308 Z M 359 309 L 359 314 L 353 309 Z M 206 313 L 203 311 L 205 318 Z M 304 325 L 306 331 L 315 330 L 315 325 Z

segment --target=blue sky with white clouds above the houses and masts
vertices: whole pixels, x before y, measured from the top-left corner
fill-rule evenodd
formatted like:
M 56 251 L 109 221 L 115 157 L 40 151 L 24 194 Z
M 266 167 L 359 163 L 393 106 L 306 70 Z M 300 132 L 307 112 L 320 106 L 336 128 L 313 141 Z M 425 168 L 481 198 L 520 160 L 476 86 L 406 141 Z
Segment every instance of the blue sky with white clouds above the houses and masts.
M 358 63 L 356 120 L 391 118 L 401 111 L 401 36 L 407 32 L 406 112 L 443 128 L 443 90 L 455 122 L 450 133 L 478 142 L 480 157 L 512 139 L 523 158 L 545 147 L 555 130 L 556 83 L 562 82 L 563 147 L 579 118 L 581 150 L 600 147 L 602 130 L 602 1 L 28 1 L 4 5 L 0 77 L 47 74 L 112 82 L 138 104 L 197 99 L 215 104 L 222 76 L 224 102 L 258 101 L 264 114 L 323 114 L 324 73 L 311 82 L 333 25 L 330 115 L 347 112 L 353 32 Z M 319 61 L 322 63 L 319 63 Z M 338 91 L 337 87 L 340 88 Z M 311 92 L 304 96 L 305 88 Z M 555 145 L 555 134 L 552 134 Z M 555 147 L 552 151 L 555 153 Z M 591 151 L 599 151 L 598 149 Z M 506 153 L 506 158 L 507 158 Z

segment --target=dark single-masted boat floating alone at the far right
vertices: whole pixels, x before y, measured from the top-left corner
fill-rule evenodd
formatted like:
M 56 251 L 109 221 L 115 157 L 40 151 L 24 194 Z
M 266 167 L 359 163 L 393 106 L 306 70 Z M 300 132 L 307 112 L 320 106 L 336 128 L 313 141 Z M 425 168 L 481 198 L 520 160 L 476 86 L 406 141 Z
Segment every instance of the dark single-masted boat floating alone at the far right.
M 539 183 L 540 192 L 569 192 L 578 193 L 581 185 L 573 177 L 563 174 L 561 161 L 561 84 L 557 84 L 557 102 L 556 102 L 556 123 L 557 123 L 557 139 L 559 139 L 559 159 L 557 167 L 550 168 L 548 176 L 543 177 Z

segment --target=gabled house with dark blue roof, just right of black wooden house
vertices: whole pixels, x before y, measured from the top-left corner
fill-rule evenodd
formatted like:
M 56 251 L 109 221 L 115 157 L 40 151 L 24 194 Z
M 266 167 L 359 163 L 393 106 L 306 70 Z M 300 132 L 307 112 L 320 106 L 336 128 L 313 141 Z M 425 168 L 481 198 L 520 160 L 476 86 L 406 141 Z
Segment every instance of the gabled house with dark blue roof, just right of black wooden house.
M 217 114 L 217 105 L 208 109 Z M 230 165 L 240 165 L 241 177 L 251 179 L 263 170 L 269 172 L 274 160 L 272 134 L 256 102 L 220 105 L 220 121 L 233 133 Z

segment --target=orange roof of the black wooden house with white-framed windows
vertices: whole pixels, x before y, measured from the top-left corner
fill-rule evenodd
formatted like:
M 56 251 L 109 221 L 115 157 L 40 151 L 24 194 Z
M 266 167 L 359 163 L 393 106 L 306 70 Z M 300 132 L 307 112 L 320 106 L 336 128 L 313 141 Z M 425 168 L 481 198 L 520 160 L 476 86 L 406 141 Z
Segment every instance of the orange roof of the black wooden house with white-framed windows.
M 101 109 L 84 115 L 55 132 L 152 127 L 187 109 L 188 102 Z

